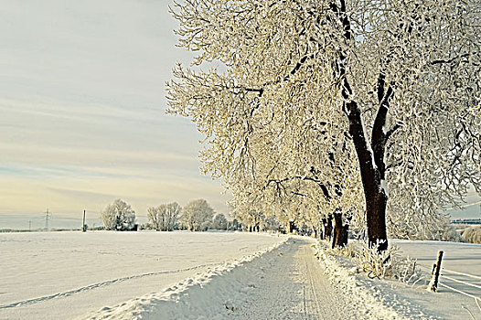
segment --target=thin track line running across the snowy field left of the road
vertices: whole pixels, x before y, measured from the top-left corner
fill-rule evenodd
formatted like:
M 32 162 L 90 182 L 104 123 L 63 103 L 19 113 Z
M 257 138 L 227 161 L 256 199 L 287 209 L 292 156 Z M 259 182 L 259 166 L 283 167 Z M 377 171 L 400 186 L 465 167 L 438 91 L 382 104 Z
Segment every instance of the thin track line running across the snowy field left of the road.
M 166 271 L 166 272 L 148 272 L 148 273 L 130 275 L 128 277 L 112 279 L 112 280 L 104 281 L 102 283 L 93 283 L 93 284 L 90 284 L 90 285 L 86 285 L 84 287 L 80 287 L 80 288 L 77 288 L 77 289 L 65 291 L 63 293 L 54 293 L 54 294 L 51 294 L 51 295 L 45 295 L 45 296 L 41 296 L 41 297 L 37 297 L 37 298 L 27 299 L 27 300 L 23 300 L 23 301 L 17 301 L 17 302 L 12 303 L 12 304 L 0 304 L 0 309 L 15 308 L 16 306 L 24 306 L 24 305 L 28 305 L 28 304 L 37 304 L 37 303 L 41 303 L 41 302 L 56 299 L 56 298 L 68 297 L 70 295 L 77 294 L 77 293 L 88 292 L 88 291 L 91 291 L 91 290 L 94 290 L 94 289 L 97 289 L 97 288 L 102 288 L 102 287 L 105 287 L 107 285 L 111 285 L 111 284 L 115 284 L 115 283 L 122 283 L 122 282 L 129 281 L 129 280 L 134 280 L 134 279 L 139 279 L 139 278 L 144 278 L 144 277 L 150 277 L 150 276 L 160 275 L 160 274 L 188 272 L 188 271 L 196 270 L 196 269 L 199 269 L 199 268 L 210 267 L 210 266 L 213 266 L 213 265 L 219 265 L 219 263 L 200 264 L 200 265 L 197 265 L 197 266 L 194 266 L 194 267 L 178 269 L 178 270 L 170 270 L 170 271 Z

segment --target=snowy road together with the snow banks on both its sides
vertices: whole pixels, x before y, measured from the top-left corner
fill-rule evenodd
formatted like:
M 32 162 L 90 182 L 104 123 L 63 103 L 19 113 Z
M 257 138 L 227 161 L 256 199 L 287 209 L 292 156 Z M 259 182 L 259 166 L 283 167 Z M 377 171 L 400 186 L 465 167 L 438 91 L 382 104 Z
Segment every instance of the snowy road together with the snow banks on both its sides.
M 339 278 L 329 279 L 329 259 L 319 263 L 314 248 L 315 240 L 292 236 L 262 255 L 212 268 L 84 319 L 406 319 L 369 291 L 351 290 L 353 283 L 338 265 L 334 273 Z

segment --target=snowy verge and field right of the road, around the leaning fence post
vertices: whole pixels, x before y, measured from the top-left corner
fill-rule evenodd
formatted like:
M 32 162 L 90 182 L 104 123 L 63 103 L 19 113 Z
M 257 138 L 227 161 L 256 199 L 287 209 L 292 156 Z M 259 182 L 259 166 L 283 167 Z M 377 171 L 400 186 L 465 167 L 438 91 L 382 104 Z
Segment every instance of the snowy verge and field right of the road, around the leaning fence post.
M 319 262 L 340 291 L 351 293 L 353 304 L 368 305 L 380 319 L 481 320 L 481 301 L 478 305 L 474 298 L 443 286 L 449 285 L 481 299 L 481 288 L 465 284 L 481 286 L 481 245 L 409 240 L 390 240 L 390 245 L 399 247 L 401 256 L 416 260 L 418 272 L 412 281 L 369 279 L 366 273 L 358 271 L 353 261 L 326 250 L 322 242 L 318 244 Z M 444 251 L 440 284 L 437 292 L 431 293 L 426 289 L 440 250 Z M 449 281 L 446 276 L 465 283 Z

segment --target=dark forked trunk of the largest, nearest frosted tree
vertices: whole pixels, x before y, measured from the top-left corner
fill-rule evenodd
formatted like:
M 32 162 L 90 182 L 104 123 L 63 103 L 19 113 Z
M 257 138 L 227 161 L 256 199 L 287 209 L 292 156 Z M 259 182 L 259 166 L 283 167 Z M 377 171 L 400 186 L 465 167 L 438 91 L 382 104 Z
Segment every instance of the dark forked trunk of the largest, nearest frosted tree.
M 352 39 L 351 24 L 346 11 L 346 3 L 344 0 L 341 0 L 339 4 L 340 5 L 331 5 L 331 8 L 335 13 L 339 14 L 339 22 L 342 24 L 344 37 L 346 41 L 350 41 Z M 346 57 L 346 52 L 342 50 L 339 51 L 337 71 L 339 80 L 342 81 L 341 93 L 345 99 L 343 108 L 349 122 L 349 133 L 352 137 L 356 154 L 358 155 L 362 186 L 364 187 L 369 245 L 376 245 L 379 242 L 379 251 L 385 251 L 388 249 L 386 232 L 386 204 L 388 202 L 388 195 L 384 187 L 381 186 L 381 181 L 385 178 L 386 167 L 384 164 L 384 152 L 386 150 L 386 142 L 390 134 L 396 130 L 396 127 L 386 132 L 384 125 L 386 124 L 390 107 L 389 101 L 394 89 L 391 85 L 392 82 L 386 85 L 386 75 L 381 70 L 376 88 L 379 109 L 373 123 L 371 142 L 369 144 L 369 138 L 364 130 L 364 123 L 358 102 L 352 100 L 354 95 L 349 80 L 347 79 Z

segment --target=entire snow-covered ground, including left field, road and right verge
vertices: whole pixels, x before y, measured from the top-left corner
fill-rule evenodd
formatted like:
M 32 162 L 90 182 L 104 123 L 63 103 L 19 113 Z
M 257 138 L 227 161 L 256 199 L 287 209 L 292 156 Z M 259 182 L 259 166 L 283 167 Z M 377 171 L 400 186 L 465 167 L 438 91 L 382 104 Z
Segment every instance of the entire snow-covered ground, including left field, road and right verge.
M 231 232 L 0 234 L 0 319 L 481 319 L 481 245 L 391 240 L 422 280 L 369 279 L 304 237 Z M 317 259 L 315 258 L 317 257 Z M 448 273 L 451 272 L 451 273 Z M 446 277 L 461 280 L 450 281 Z M 463 283 L 464 282 L 464 283 Z

